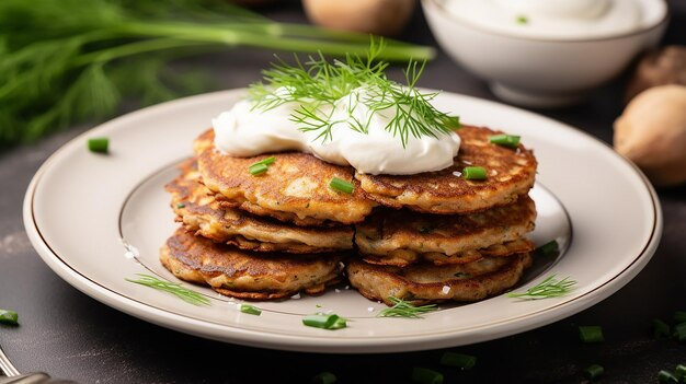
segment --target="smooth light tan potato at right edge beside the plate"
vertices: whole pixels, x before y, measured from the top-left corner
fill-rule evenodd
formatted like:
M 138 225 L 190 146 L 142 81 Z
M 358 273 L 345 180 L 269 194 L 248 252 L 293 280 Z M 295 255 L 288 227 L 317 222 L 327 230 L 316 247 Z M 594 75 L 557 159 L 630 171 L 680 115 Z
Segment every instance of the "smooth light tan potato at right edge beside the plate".
M 614 141 L 655 186 L 686 182 L 686 86 L 660 85 L 638 94 L 615 121 Z

